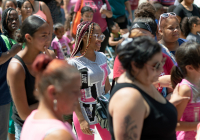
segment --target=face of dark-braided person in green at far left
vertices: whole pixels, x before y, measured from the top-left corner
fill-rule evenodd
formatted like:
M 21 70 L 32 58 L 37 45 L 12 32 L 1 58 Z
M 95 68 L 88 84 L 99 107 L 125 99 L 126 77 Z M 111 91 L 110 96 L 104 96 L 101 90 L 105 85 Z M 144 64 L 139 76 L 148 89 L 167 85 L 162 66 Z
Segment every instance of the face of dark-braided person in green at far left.
M 19 28 L 19 19 L 16 11 L 12 10 L 6 17 L 8 30 L 14 32 Z

